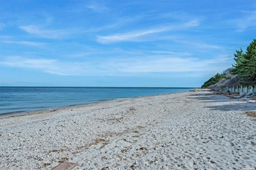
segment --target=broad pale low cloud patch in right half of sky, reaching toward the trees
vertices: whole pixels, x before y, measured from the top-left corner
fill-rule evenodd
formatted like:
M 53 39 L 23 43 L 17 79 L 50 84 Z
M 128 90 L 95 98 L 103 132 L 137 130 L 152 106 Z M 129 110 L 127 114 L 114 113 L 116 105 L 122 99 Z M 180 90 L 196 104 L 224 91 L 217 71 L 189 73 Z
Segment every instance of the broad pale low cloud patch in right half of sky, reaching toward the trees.
M 156 55 L 141 59 L 127 59 L 117 63 L 108 63 L 120 72 L 204 72 L 205 68 L 222 70 L 230 65 L 229 57 L 218 59 L 181 58 Z

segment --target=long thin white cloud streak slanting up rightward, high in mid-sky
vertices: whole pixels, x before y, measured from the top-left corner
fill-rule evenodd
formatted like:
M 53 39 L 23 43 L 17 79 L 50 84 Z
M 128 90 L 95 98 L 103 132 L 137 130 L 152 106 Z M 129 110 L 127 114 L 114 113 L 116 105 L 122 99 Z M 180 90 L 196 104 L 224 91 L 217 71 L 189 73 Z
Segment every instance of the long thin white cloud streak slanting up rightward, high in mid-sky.
M 120 34 L 109 35 L 109 36 L 99 35 L 96 37 L 96 41 L 98 41 L 99 43 L 114 43 L 114 42 L 122 42 L 122 41 L 148 41 L 148 39 L 140 39 L 140 38 L 144 35 L 161 33 L 166 31 L 188 29 L 198 25 L 199 25 L 198 20 L 191 20 L 182 24 L 170 25 L 165 27 L 157 27 L 157 28 L 147 29 L 142 31 L 132 31 L 132 32 L 120 33 Z

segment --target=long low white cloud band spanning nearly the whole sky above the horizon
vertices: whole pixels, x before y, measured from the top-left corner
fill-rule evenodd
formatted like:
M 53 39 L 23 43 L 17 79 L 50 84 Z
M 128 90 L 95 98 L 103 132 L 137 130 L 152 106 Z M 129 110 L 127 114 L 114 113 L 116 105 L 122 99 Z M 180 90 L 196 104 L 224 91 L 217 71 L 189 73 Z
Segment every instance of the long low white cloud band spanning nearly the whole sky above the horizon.
M 90 61 L 60 61 L 57 59 L 28 58 L 21 56 L 1 57 L 3 66 L 41 70 L 49 74 L 80 76 L 130 76 L 157 72 L 219 72 L 230 67 L 230 57 L 214 59 L 150 55 L 146 57 L 112 57 Z

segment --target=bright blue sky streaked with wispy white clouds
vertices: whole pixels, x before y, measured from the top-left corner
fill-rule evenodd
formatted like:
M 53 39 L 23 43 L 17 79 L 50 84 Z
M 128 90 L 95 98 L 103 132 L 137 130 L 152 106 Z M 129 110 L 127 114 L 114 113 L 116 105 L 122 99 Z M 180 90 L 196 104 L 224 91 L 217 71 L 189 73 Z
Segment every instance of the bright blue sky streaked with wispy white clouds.
M 255 38 L 255 0 L 0 0 L 0 86 L 200 87 Z

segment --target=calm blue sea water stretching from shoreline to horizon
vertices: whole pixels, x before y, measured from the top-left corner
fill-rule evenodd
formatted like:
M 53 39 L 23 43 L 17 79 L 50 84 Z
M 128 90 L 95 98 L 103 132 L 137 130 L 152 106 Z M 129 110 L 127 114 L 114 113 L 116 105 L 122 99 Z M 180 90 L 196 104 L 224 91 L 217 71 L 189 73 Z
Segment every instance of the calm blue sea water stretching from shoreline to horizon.
M 0 87 L 0 116 L 191 89 L 193 88 Z

